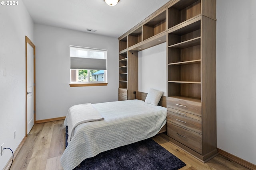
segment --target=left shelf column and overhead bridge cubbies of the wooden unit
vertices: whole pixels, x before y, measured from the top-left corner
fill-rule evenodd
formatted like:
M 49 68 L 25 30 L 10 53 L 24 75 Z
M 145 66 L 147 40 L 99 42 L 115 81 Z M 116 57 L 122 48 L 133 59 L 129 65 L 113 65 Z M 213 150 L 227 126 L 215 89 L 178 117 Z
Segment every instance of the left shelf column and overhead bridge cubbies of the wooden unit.
M 166 17 L 167 10 L 162 8 L 118 38 L 118 100 L 135 99 L 134 92 L 138 93 L 138 51 L 166 42 Z

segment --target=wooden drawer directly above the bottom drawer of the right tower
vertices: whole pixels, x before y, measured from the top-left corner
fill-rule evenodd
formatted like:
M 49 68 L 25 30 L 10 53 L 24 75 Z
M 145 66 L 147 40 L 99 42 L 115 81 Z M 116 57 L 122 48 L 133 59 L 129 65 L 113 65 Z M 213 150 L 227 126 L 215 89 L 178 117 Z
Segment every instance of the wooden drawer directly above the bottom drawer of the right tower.
M 190 113 L 186 113 L 186 115 L 188 114 Z M 180 115 L 171 111 L 167 111 L 167 120 L 190 129 L 196 133 L 202 134 L 202 121 L 192 119 L 190 117 L 186 117 L 185 115 Z

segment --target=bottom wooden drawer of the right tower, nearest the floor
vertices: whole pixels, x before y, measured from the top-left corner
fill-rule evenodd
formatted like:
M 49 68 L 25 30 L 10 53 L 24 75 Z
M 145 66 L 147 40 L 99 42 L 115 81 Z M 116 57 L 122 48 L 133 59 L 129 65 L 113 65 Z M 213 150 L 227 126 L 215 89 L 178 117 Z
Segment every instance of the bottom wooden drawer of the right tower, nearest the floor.
M 167 121 L 167 135 L 202 154 L 202 135 Z

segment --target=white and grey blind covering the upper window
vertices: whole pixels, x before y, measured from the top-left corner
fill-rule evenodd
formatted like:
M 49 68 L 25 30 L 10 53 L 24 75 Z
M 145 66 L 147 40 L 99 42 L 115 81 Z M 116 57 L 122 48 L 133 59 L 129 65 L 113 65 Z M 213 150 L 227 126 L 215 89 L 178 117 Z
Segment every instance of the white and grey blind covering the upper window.
M 107 70 L 107 50 L 70 46 L 70 69 Z

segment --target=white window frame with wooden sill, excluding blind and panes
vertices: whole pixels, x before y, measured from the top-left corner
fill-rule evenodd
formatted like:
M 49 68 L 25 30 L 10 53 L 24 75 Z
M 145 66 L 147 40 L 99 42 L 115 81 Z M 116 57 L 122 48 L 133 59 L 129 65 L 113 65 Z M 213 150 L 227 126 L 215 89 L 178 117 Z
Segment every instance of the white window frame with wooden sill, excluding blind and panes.
M 70 87 L 82 87 L 82 86 L 107 86 L 108 85 L 108 76 L 107 76 L 107 73 L 108 73 L 108 50 L 106 49 L 96 49 L 96 48 L 90 48 L 90 47 L 80 47 L 80 46 L 74 46 L 74 45 L 70 45 L 70 51 L 71 51 L 71 47 L 73 48 L 80 48 L 80 49 L 87 49 L 88 51 L 90 50 L 93 50 L 93 51 L 105 51 L 105 55 L 104 55 L 104 58 L 106 58 L 106 70 L 104 70 L 104 81 L 101 81 L 101 82 L 90 82 L 89 80 L 89 77 L 91 73 L 88 73 L 88 82 L 72 82 L 71 81 L 71 70 L 88 70 L 88 72 L 90 72 L 90 70 L 93 70 L 93 69 L 71 69 L 71 66 L 69 67 L 70 69 L 70 74 L 69 74 L 69 85 Z M 71 65 L 71 52 L 70 52 L 70 55 L 69 55 L 69 59 L 70 59 L 70 65 Z M 74 57 L 74 56 L 73 56 Z M 82 57 L 81 57 L 82 58 Z M 88 57 L 89 58 L 89 57 Z

